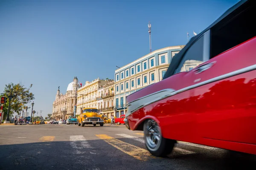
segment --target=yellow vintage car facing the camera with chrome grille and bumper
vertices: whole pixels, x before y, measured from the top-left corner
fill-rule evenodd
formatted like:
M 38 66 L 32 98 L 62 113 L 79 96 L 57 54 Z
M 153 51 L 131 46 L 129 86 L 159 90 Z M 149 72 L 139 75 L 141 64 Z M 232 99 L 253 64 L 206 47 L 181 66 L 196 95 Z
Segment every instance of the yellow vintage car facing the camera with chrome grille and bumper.
M 104 125 L 104 115 L 99 114 L 97 108 L 84 108 L 83 113 L 77 117 L 77 122 L 79 126 L 84 127 L 84 125 L 100 126 Z

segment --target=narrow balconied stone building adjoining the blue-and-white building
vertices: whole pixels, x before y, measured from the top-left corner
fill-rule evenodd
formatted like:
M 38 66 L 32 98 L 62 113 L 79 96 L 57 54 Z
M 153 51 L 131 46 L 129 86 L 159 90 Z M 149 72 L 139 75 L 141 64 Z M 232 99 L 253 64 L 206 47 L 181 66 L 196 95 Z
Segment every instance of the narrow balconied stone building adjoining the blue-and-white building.
M 114 80 L 108 80 L 108 82 L 103 85 L 103 107 L 101 110 L 103 111 L 103 114 L 107 115 L 108 118 L 110 118 L 111 115 L 114 115 L 114 87 Z

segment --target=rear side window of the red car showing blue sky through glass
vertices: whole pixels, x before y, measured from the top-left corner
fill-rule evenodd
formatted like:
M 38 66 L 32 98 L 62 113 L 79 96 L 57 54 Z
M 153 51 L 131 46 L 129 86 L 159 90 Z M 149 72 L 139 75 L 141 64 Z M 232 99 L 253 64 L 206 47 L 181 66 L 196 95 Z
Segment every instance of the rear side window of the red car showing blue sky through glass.
M 209 59 L 209 32 L 201 36 L 184 54 L 176 73 L 190 71 Z

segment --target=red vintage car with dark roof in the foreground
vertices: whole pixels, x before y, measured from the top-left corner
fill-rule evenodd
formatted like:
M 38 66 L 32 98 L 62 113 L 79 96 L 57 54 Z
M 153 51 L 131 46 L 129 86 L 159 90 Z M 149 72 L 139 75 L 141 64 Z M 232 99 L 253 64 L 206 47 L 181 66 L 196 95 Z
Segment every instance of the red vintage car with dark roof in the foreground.
M 155 156 L 176 141 L 256 154 L 256 1 L 243 0 L 176 54 L 163 80 L 126 97 L 125 125 Z

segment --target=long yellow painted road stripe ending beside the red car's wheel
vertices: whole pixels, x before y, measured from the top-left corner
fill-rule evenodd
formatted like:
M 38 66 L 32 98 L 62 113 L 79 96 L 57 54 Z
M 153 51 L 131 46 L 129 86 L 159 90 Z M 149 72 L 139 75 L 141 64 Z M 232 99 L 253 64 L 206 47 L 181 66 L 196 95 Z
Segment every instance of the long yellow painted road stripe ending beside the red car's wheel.
M 147 161 L 149 158 L 152 158 L 148 150 L 145 150 L 143 148 L 134 146 L 132 144 L 128 144 L 126 142 L 122 142 L 108 135 L 96 135 L 96 136 L 99 139 L 103 139 L 105 142 L 112 145 L 113 147 L 116 147 L 116 149 L 121 150 L 122 152 L 130 156 L 133 156 L 135 159 L 138 159 L 141 161 Z

